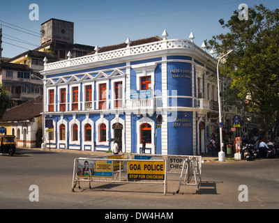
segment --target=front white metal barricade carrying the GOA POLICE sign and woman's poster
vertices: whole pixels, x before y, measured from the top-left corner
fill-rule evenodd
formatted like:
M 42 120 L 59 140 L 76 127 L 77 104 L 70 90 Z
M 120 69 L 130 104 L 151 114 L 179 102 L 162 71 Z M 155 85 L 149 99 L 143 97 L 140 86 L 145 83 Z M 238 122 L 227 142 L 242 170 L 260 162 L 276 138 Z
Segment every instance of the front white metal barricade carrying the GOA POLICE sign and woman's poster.
M 119 174 L 119 176 L 117 176 Z M 118 178 L 118 179 L 117 179 Z M 73 167 L 73 184 L 80 188 L 80 182 L 105 183 L 155 183 L 164 185 L 167 192 L 167 168 L 165 160 L 129 160 L 113 157 L 80 157 L 75 158 Z

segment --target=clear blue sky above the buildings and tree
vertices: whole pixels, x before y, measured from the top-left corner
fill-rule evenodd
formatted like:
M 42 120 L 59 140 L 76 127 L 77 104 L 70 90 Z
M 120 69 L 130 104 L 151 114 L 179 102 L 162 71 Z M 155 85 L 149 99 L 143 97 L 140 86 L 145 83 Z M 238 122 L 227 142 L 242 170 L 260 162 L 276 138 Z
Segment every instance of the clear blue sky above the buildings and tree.
M 30 20 L 38 5 L 38 20 Z M 125 43 L 127 38 L 139 40 L 151 36 L 188 39 L 202 45 L 212 36 L 226 33 L 219 20 L 225 22 L 239 11 L 262 3 L 271 10 L 279 8 L 278 0 L 32 0 L 1 1 L 2 57 L 17 56 L 40 45 L 40 24 L 51 18 L 74 22 L 74 42 L 98 47 Z M 248 11 L 249 13 L 249 11 Z M 27 44 L 28 42 L 28 44 Z M 16 46 L 15 46 L 16 45 Z

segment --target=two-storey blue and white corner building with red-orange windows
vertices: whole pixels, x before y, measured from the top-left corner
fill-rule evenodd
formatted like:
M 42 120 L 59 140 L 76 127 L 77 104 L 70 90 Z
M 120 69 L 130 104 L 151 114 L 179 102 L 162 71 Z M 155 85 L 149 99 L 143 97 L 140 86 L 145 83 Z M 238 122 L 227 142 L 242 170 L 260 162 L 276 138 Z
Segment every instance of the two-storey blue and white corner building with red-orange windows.
M 142 139 L 146 153 L 206 152 L 218 128 L 216 59 L 193 41 L 166 37 L 45 60 L 44 116 L 54 128 L 47 148 L 109 151 L 118 138 L 126 153 L 140 153 Z

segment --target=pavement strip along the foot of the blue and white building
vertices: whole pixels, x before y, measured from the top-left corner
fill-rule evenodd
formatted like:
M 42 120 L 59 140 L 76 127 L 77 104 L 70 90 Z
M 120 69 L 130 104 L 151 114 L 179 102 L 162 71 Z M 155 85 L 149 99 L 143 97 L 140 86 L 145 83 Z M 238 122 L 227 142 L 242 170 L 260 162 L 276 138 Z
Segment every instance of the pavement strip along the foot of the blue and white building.
M 22 149 L 31 149 L 31 150 L 42 150 L 41 148 L 27 148 L 27 147 L 17 147 Z M 107 153 L 103 151 L 80 151 L 80 150 L 73 150 L 73 149 L 58 149 L 58 148 L 45 148 L 44 151 L 52 151 L 56 153 L 77 153 L 80 155 L 85 155 L 86 157 L 89 156 L 101 156 L 101 155 L 113 155 L 113 153 Z M 218 152 L 216 152 L 215 156 L 212 156 L 211 153 L 203 153 L 202 160 L 204 162 L 215 162 L 218 161 Z M 226 155 L 226 157 L 228 157 Z

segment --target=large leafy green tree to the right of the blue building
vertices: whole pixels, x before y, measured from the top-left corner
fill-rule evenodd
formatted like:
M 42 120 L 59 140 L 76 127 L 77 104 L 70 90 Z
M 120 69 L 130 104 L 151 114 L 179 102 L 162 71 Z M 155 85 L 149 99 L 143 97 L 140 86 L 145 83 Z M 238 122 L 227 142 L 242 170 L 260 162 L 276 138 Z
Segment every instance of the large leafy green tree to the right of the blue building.
M 234 49 L 220 68 L 229 79 L 225 103 L 258 117 L 274 136 L 279 128 L 279 9 L 260 4 L 249 8 L 248 20 L 239 20 L 235 10 L 227 23 L 219 22 L 228 32 L 205 43 L 219 55 Z

